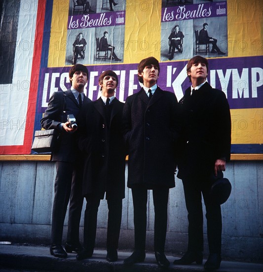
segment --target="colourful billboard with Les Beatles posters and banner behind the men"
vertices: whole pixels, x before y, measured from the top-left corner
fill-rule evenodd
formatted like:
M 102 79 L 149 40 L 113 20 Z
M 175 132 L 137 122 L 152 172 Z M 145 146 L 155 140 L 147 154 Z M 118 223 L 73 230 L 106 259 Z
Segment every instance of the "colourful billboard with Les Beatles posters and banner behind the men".
M 3 22 L 8 2 L 1 4 Z M 119 0 L 112 7 L 102 0 L 15 3 L 14 35 L 7 40 L 0 30 L 1 49 L 15 45 L 8 47 L 13 64 L 6 50 L 0 51 L 0 154 L 32 153 L 48 100 L 70 87 L 73 64 L 88 67 L 85 93 L 92 100 L 100 96 L 99 75 L 114 70 L 116 97 L 125 101 L 141 88 L 137 64 L 154 56 L 160 61 L 157 84 L 179 100 L 190 84 L 187 62 L 197 54 L 208 58 L 207 81 L 228 99 L 231 152 L 263 153 L 261 1 Z

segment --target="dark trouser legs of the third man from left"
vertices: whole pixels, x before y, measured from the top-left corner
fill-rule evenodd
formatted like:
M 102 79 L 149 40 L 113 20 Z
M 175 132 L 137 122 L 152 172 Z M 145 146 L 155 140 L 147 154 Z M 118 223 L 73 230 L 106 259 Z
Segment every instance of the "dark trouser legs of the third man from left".
M 154 251 L 164 252 L 167 230 L 167 206 L 169 188 L 152 189 L 154 205 Z M 144 251 L 146 247 L 147 198 L 148 189 L 142 185 L 132 188 L 134 208 L 135 250 Z

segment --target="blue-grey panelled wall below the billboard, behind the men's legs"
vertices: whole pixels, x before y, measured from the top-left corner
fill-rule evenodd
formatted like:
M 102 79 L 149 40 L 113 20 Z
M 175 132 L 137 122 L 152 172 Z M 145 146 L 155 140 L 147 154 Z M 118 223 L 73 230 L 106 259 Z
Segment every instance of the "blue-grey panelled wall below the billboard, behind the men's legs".
M 0 162 L 0 240 L 49 244 L 51 210 L 56 169 L 52 162 Z M 127 169 L 126 169 L 127 175 Z M 232 192 L 222 205 L 222 256 L 230 260 L 263 261 L 263 162 L 233 161 L 225 177 Z M 131 190 L 123 199 L 120 249 L 133 249 L 133 205 Z M 81 218 L 81 240 L 84 207 Z M 149 191 L 147 250 L 153 251 L 152 195 Z M 107 202 L 101 200 L 98 214 L 96 247 L 105 248 Z M 64 239 L 67 231 L 65 220 Z M 206 234 L 206 220 L 204 233 Z M 181 180 L 170 190 L 166 252 L 187 249 L 187 211 Z M 204 254 L 208 254 L 205 235 Z

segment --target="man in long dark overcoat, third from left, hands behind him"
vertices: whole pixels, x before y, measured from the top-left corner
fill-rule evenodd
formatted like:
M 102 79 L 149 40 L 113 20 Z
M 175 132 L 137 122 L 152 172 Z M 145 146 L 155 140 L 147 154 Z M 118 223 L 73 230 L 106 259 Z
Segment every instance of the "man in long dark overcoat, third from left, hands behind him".
M 123 108 L 123 130 L 128 148 L 128 187 L 134 207 L 135 250 L 124 260 L 132 265 L 145 259 L 147 198 L 152 190 L 154 204 L 154 251 L 161 267 L 168 267 L 164 254 L 169 188 L 175 186 L 174 144 L 177 132 L 177 99 L 157 86 L 160 66 L 149 57 L 138 65 L 143 88 L 128 96 Z

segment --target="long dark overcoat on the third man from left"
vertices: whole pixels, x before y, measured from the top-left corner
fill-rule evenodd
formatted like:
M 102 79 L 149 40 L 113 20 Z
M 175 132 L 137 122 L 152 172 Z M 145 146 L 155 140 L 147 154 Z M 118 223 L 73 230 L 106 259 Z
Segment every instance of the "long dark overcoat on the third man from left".
M 127 97 L 123 131 L 129 154 L 128 187 L 175 186 L 177 107 L 175 94 L 159 87 L 150 100 L 143 88 Z

